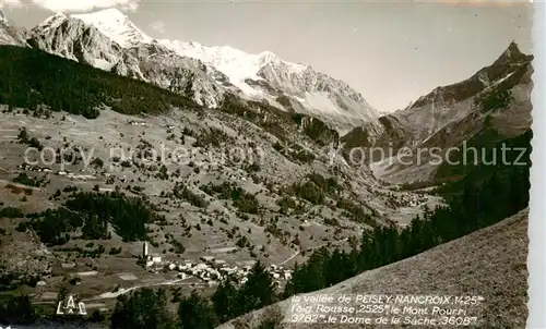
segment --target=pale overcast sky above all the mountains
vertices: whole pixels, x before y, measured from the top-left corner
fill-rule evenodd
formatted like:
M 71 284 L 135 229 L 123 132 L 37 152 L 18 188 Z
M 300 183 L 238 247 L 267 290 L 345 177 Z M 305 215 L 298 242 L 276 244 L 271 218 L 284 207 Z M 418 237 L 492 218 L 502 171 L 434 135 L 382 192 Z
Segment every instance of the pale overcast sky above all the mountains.
M 116 5 L 152 37 L 270 50 L 347 82 L 387 111 L 471 76 L 512 39 L 532 53 L 529 1 L 0 0 L 2 5 L 27 28 L 60 10 Z

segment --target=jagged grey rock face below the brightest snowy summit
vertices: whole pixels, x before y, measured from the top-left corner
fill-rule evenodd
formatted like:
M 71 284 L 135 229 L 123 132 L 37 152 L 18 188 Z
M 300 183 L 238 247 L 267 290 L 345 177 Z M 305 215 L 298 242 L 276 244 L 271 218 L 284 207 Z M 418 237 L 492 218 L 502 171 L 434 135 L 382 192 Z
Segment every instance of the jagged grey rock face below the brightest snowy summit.
M 199 60 L 177 56 L 157 42 L 122 47 L 76 16 L 59 13 L 47 19 L 29 32 L 28 42 L 70 60 L 192 96 L 201 105 L 218 106 L 223 97 L 223 88 L 210 78 Z

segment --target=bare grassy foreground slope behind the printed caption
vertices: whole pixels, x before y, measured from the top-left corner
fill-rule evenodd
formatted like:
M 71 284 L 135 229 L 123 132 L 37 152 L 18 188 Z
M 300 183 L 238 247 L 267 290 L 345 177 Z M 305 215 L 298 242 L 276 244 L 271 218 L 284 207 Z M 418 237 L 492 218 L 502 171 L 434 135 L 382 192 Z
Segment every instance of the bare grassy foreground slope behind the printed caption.
M 503 221 L 402 261 L 364 272 L 310 294 L 476 295 L 468 307 L 477 328 L 525 328 L 527 315 L 529 209 Z M 304 298 L 300 298 L 304 301 Z M 292 306 L 286 300 L 218 328 L 258 328 L 270 319 L 275 328 L 345 328 L 347 325 L 278 324 Z M 301 306 L 312 303 L 299 303 Z M 420 316 L 423 317 L 423 316 Z M 419 316 L 416 316 L 419 318 Z M 358 327 L 358 326 L 353 326 Z M 388 326 L 397 328 L 402 326 Z M 422 326 L 423 328 L 426 326 Z M 449 327 L 449 326 L 448 326 Z M 373 328 L 364 326 L 360 328 Z M 378 326 L 378 328 L 385 328 Z

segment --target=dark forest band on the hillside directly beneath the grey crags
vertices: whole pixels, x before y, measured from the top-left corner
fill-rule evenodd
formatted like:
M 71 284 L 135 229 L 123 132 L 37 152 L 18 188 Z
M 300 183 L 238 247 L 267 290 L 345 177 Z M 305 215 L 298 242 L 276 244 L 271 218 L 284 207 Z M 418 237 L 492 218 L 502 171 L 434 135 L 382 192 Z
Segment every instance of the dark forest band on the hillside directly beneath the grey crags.
M 106 105 L 126 114 L 157 113 L 170 106 L 198 109 L 180 95 L 45 51 L 0 46 L 0 103 L 64 110 L 96 118 Z

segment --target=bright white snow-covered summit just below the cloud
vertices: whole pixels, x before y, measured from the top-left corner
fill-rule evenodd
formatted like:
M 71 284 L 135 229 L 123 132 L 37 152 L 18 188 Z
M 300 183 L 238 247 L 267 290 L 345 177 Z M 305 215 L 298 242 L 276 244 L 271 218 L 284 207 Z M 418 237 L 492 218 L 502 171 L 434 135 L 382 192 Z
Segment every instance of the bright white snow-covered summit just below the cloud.
M 115 8 L 87 14 L 72 14 L 70 16 L 95 26 L 100 33 L 123 48 L 153 40 L 136 27 L 126 14 Z

